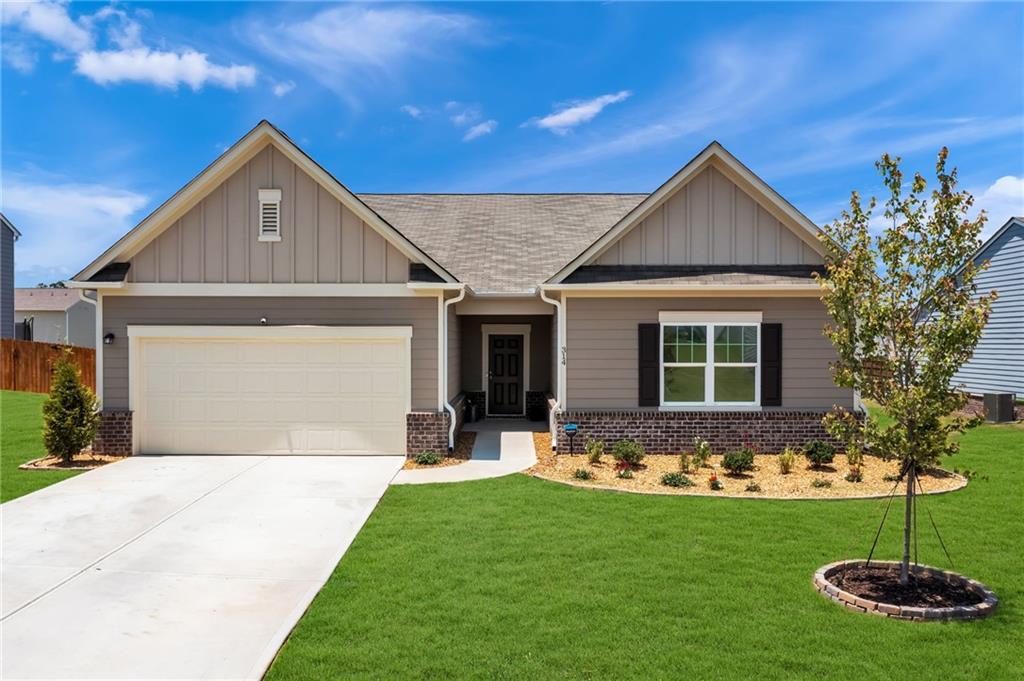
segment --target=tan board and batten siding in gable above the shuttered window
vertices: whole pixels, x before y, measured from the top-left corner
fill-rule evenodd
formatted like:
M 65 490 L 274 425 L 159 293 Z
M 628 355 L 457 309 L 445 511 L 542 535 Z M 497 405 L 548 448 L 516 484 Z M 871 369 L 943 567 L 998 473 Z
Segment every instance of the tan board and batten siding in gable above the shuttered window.
M 796 265 L 821 256 L 713 166 L 590 264 Z

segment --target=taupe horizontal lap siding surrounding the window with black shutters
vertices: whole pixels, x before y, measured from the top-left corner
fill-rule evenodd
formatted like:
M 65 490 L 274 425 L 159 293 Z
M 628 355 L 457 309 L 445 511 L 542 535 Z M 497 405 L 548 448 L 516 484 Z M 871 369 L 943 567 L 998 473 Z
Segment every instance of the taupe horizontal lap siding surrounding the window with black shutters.
M 816 298 L 567 298 L 568 409 L 638 409 L 637 325 L 663 310 L 760 310 L 782 325 L 781 409 L 853 408 L 853 391 L 831 379 L 836 351 L 822 333 Z

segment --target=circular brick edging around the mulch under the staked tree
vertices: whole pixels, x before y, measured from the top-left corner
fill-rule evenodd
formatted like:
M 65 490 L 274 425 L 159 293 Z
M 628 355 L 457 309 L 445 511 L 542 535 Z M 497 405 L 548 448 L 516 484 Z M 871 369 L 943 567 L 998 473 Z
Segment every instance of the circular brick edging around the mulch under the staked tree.
M 871 566 L 891 567 L 900 563 L 895 560 L 872 560 Z M 964 577 L 956 572 L 929 567 L 927 565 L 911 566 L 913 572 L 921 577 L 937 578 L 950 586 L 956 586 L 964 591 L 973 594 L 979 602 L 973 605 L 956 605 L 953 607 L 916 607 L 908 605 L 895 605 L 892 603 L 880 603 L 868 600 L 861 596 L 855 596 L 848 591 L 844 591 L 836 584 L 838 578 L 845 568 L 867 566 L 866 560 L 841 560 L 819 567 L 814 573 L 814 588 L 825 598 L 836 601 L 844 607 L 857 612 L 870 612 L 885 618 L 896 620 L 979 620 L 986 618 L 995 611 L 999 599 L 995 597 L 992 590 L 980 582 Z

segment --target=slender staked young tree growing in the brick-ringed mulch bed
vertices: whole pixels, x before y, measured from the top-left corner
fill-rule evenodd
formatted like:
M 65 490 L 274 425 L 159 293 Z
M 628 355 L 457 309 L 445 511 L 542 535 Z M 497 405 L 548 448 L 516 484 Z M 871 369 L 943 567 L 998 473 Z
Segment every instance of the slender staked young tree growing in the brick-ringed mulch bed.
M 883 156 L 876 167 L 890 195 L 885 228 L 872 236 L 876 200 L 865 209 L 854 191 L 849 210 L 824 228 L 830 257 L 827 273 L 818 278 L 833 320 L 825 335 L 839 354 L 836 383 L 879 402 L 893 421 L 882 428 L 870 416 L 861 422 L 838 410 L 825 418 L 825 427 L 848 446 L 868 446 L 902 464 L 903 585 L 909 579 L 918 471 L 957 450 L 949 436 L 968 422 L 948 417 L 967 397 L 950 381 L 971 357 L 995 297 L 976 295 L 975 263 L 961 269 L 980 246 L 985 214 L 968 218 L 974 198 L 957 190 L 947 156 L 943 147 L 930 196 L 924 177 L 914 174 L 905 186 L 900 159 Z

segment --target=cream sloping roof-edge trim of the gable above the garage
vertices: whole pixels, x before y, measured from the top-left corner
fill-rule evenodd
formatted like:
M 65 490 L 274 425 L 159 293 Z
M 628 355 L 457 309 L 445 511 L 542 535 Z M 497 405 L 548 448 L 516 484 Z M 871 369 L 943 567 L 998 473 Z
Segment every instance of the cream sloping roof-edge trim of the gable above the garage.
M 173 197 L 143 218 L 131 231 L 118 240 L 117 243 L 106 249 L 73 279 L 84 283 L 116 258 L 120 257 L 125 260 L 131 258 L 131 256 L 138 253 L 156 239 L 167 226 L 173 224 L 190 210 L 213 187 L 229 177 L 231 173 L 255 157 L 267 144 L 273 144 L 292 163 L 324 186 L 335 199 L 342 202 L 364 222 L 380 232 L 402 255 L 414 262 L 426 264 L 445 282 L 455 281 L 446 269 L 441 267 L 433 258 L 391 226 L 384 218 L 375 213 L 366 203 L 352 194 L 348 187 L 324 170 L 305 152 L 299 148 L 295 142 L 283 135 L 281 131 L 265 120 L 260 121 L 242 139 L 231 145 L 216 161 L 189 180 Z

